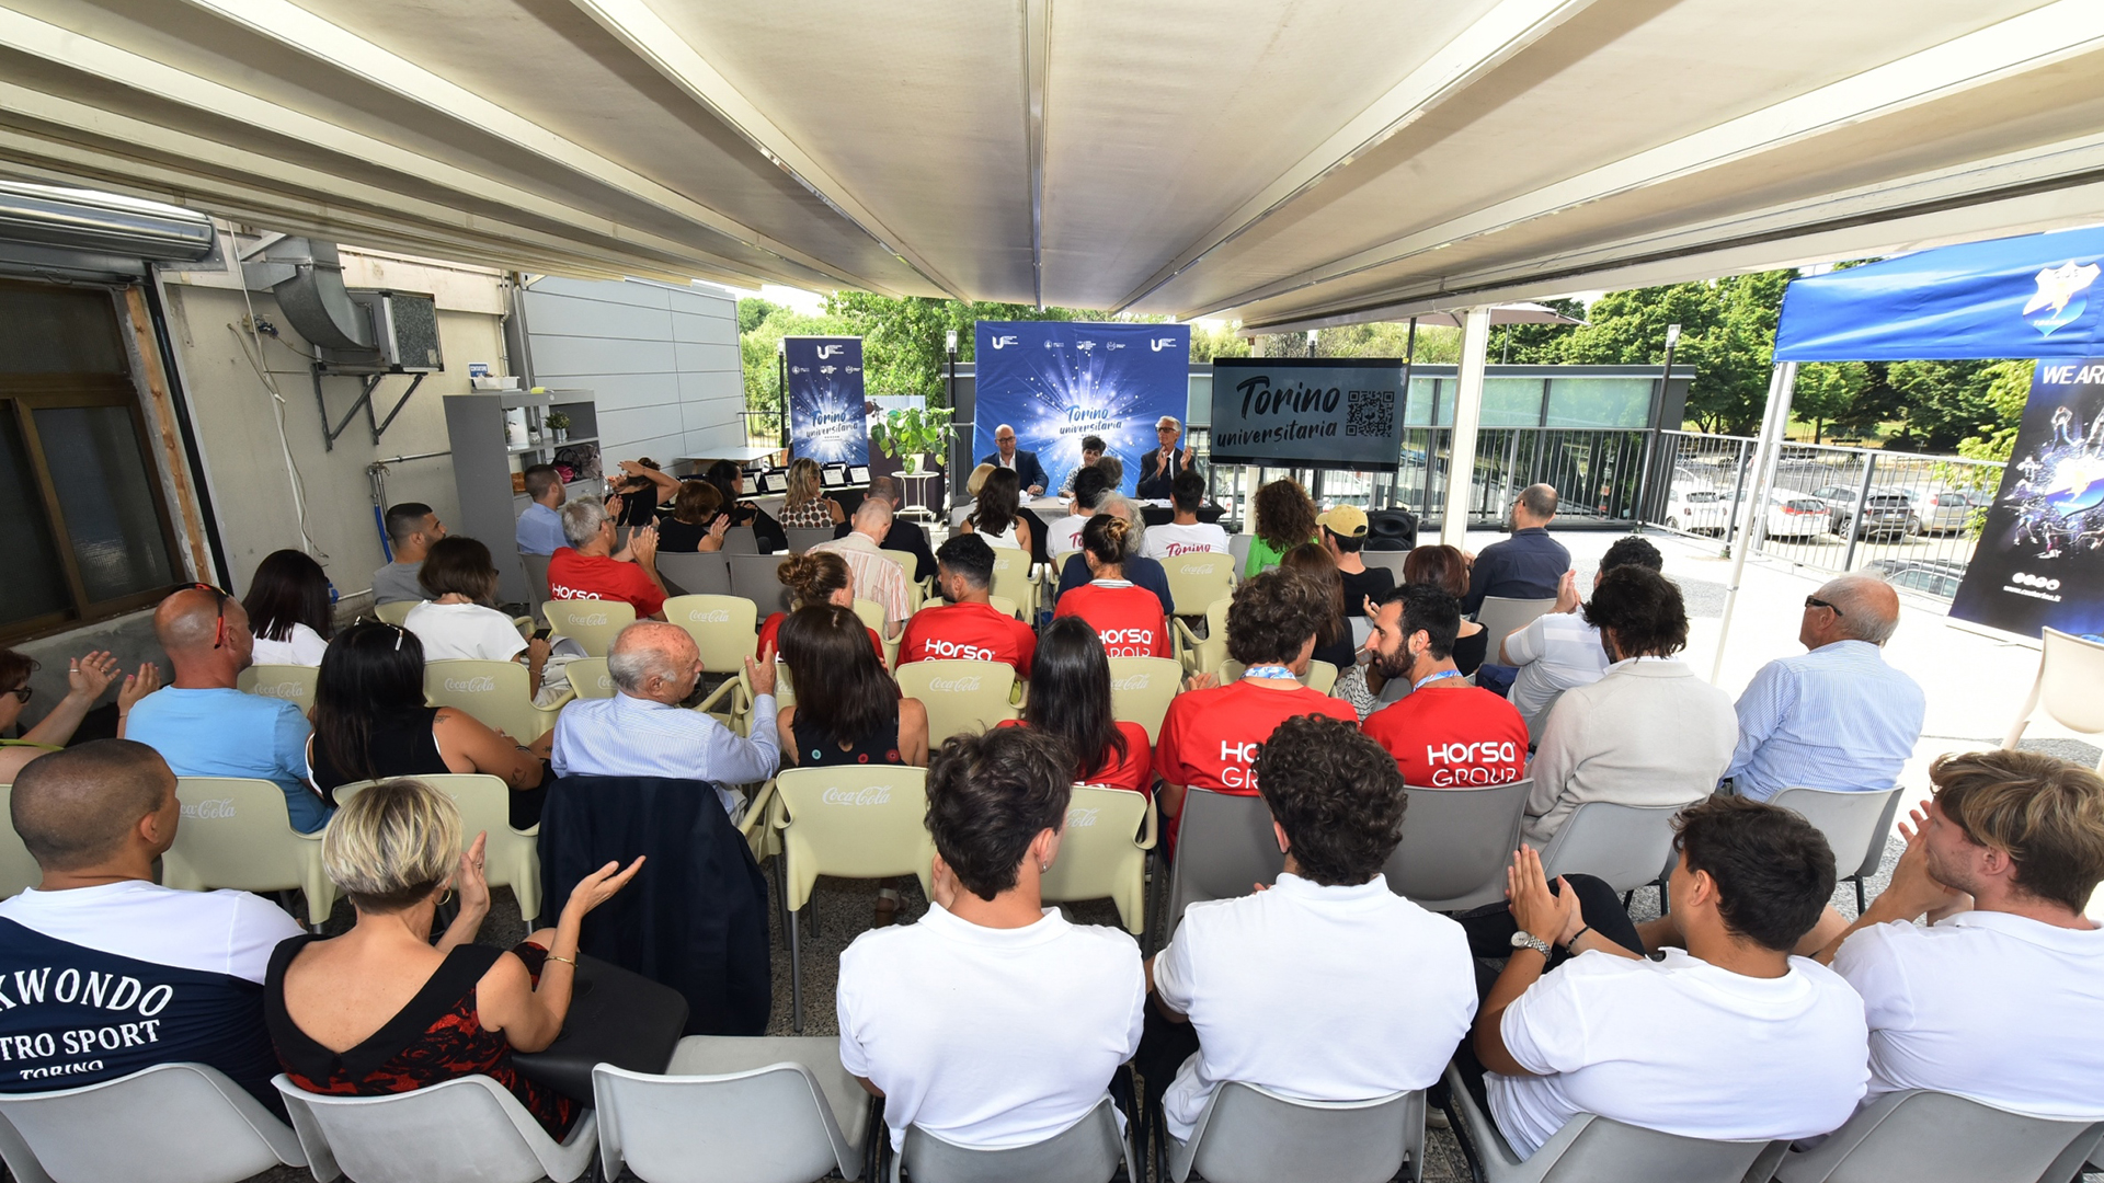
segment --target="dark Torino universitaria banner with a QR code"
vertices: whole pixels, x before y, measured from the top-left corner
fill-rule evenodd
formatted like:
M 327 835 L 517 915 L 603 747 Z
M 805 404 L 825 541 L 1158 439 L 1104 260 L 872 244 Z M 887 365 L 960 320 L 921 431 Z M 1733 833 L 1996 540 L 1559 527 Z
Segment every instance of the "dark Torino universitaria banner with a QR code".
M 1401 360 L 1212 362 L 1212 463 L 1395 472 L 1401 450 Z

